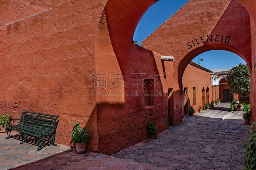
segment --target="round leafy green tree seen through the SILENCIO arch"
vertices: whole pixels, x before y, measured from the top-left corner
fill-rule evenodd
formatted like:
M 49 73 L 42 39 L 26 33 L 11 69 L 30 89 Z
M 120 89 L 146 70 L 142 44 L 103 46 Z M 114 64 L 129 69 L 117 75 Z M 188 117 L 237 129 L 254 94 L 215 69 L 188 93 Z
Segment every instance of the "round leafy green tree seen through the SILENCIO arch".
M 231 93 L 247 96 L 250 99 L 250 70 L 248 65 L 239 64 L 228 70 L 226 80 Z

